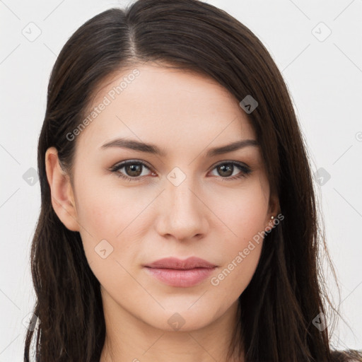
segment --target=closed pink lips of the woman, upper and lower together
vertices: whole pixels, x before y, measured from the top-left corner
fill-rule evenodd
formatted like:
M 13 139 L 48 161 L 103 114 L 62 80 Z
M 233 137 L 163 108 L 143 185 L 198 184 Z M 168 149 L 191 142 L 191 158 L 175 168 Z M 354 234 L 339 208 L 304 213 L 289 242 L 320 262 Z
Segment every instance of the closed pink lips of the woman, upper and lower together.
M 197 257 L 185 260 L 170 257 L 147 264 L 145 268 L 148 273 L 169 286 L 189 287 L 206 279 L 216 265 Z

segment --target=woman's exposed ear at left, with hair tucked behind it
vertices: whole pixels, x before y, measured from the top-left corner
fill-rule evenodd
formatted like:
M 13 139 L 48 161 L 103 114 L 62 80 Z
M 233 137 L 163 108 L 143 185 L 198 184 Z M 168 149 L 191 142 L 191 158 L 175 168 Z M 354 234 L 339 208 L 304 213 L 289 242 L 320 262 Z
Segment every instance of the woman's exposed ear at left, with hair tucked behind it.
M 79 231 L 74 193 L 69 175 L 59 165 L 58 151 L 49 147 L 45 153 L 45 168 L 52 197 L 52 206 L 64 226 Z

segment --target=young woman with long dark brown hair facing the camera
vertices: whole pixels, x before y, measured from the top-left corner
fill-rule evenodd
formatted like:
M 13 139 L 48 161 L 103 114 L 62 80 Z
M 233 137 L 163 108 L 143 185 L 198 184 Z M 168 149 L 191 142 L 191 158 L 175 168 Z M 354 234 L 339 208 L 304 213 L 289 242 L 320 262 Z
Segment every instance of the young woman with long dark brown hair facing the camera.
M 243 24 L 110 9 L 49 80 L 33 239 L 37 361 L 362 361 L 329 347 L 308 156 Z M 326 301 L 328 301 L 326 299 Z

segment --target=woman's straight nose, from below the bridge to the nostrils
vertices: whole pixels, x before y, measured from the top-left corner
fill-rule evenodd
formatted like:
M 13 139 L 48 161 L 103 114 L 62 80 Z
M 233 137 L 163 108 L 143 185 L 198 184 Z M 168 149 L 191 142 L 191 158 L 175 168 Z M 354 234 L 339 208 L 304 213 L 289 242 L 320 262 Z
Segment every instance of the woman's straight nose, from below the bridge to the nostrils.
M 202 238 L 209 228 L 208 208 L 189 177 L 175 186 L 166 180 L 156 222 L 159 235 L 177 240 Z

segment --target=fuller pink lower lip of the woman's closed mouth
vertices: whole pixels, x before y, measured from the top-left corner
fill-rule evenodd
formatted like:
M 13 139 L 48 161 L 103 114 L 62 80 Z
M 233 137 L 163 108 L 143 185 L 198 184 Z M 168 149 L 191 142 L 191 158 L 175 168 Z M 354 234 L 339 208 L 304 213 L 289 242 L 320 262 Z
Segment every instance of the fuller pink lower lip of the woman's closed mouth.
M 212 274 L 214 268 L 194 268 L 194 269 L 161 269 L 146 267 L 151 275 L 155 276 L 169 286 L 188 287 L 196 286 Z

